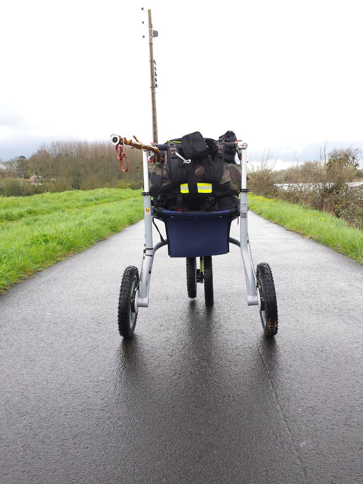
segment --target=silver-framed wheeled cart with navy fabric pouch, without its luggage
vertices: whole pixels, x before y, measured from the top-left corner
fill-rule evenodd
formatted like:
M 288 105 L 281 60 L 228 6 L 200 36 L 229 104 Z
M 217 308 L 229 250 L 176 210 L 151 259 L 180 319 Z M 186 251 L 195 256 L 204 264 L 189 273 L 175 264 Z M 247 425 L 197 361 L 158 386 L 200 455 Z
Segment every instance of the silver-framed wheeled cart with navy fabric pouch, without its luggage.
M 122 146 L 118 135 L 111 136 L 111 143 Z M 213 305 L 212 256 L 229 252 L 229 244 L 240 248 L 247 285 L 247 305 L 259 306 L 259 314 L 266 337 L 272 337 L 278 330 L 278 313 L 274 280 L 270 266 L 259 263 L 255 271 L 248 236 L 247 207 L 247 144 L 235 142 L 235 149 L 241 160 L 241 188 L 237 206 L 240 240 L 230 236 L 231 211 L 184 212 L 167 210 L 152 205 L 149 192 L 149 151 L 165 145 L 143 145 L 144 224 L 145 245 L 139 275 L 138 269 L 129 266 L 125 269 L 119 298 L 118 325 L 120 334 L 125 338 L 133 335 L 137 314 L 140 308 L 149 306 L 149 287 L 156 251 L 167 245 L 171 257 L 186 259 L 186 286 L 190 298 L 197 295 L 197 285 L 204 285 L 205 302 Z M 184 160 L 185 161 L 185 160 Z M 188 160 L 190 161 L 190 160 Z M 165 224 L 167 238 L 153 244 L 153 217 Z M 199 263 L 197 264 L 197 258 Z

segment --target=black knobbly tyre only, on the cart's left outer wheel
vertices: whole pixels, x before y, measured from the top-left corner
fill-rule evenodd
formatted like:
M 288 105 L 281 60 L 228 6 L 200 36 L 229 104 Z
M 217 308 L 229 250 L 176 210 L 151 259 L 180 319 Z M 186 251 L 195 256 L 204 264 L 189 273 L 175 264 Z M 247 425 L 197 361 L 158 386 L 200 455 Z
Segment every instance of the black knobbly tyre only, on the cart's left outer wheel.
M 134 276 L 137 276 L 139 280 L 139 270 L 137 267 L 130 265 L 124 271 L 121 281 L 120 296 L 119 296 L 119 306 L 118 306 L 118 326 L 119 333 L 124 338 L 131 338 L 136 326 L 137 313 L 135 316 L 135 321 L 130 328 L 130 300 L 131 300 L 131 288 Z

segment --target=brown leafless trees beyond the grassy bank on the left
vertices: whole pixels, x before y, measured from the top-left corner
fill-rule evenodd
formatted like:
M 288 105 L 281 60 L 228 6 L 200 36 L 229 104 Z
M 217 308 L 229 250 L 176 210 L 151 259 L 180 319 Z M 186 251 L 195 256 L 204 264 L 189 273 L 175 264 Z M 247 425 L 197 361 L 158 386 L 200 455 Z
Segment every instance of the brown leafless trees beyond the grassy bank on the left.
M 115 147 L 110 143 L 54 141 L 41 145 L 29 158 L 17 156 L 0 164 L 0 195 L 102 187 L 140 188 L 142 153 L 129 147 L 125 152 L 130 166 L 126 173 L 121 170 Z M 33 176 L 34 183 L 27 181 Z

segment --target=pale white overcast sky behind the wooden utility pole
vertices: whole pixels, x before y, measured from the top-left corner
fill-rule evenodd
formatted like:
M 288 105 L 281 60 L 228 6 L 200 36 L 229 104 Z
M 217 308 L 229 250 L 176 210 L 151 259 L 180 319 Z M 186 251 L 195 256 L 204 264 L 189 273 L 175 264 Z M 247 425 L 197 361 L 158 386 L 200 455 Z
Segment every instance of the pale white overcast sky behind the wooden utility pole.
M 251 159 L 265 150 L 279 168 L 316 159 L 325 141 L 363 148 L 360 1 L 12 0 L 1 7 L 0 158 L 113 132 L 152 140 L 147 8 L 159 142 L 232 129 Z

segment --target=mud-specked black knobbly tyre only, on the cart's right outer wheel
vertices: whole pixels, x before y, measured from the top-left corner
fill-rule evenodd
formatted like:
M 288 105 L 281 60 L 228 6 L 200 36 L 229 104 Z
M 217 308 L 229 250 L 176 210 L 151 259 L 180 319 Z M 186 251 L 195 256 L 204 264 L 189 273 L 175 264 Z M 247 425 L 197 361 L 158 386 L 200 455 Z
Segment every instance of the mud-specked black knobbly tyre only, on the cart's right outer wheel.
M 259 278 L 261 279 L 265 300 L 266 327 L 263 328 L 263 331 L 265 336 L 270 338 L 277 334 L 279 327 L 275 282 L 272 276 L 271 267 L 267 262 L 261 262 L 257 266 L 256 274 L 257 280 L 259 280 Z

